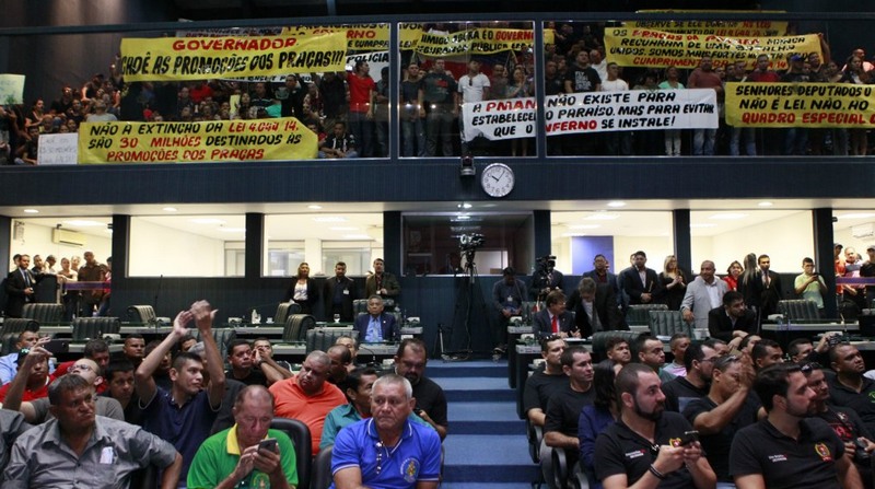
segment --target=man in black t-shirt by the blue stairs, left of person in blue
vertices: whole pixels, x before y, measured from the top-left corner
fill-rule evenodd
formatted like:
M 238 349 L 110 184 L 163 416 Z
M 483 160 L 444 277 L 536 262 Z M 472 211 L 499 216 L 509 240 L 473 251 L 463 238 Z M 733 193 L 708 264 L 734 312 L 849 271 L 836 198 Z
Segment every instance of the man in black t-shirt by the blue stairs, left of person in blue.
M 565 458 L 576 461 L 580 458 L 578 421 L 583 407 L 592 406 L 595 398 L 593 357 L 583 347 L 574 346 L 562 352 L 561 361 L 569 383 L 547 401 L 544 441 L 547 446 L 565 449 Z

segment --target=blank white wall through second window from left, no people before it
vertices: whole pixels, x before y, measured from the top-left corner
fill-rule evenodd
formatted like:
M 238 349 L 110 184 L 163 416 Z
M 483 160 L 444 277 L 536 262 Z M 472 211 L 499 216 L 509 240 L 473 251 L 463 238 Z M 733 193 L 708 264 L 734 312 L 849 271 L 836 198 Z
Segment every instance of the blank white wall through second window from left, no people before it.
M 224 277 L 224 242 L 131 218 L 130 277 Z

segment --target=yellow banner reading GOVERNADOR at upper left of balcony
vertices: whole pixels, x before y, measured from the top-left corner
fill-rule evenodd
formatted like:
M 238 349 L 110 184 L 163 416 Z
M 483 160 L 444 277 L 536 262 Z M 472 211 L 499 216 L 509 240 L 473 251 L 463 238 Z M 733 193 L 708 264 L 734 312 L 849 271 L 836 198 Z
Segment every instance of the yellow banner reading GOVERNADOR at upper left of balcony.
M 121 39 L 125 81 L 179 81 L 343 71 L 346 33 L 311 37 Z

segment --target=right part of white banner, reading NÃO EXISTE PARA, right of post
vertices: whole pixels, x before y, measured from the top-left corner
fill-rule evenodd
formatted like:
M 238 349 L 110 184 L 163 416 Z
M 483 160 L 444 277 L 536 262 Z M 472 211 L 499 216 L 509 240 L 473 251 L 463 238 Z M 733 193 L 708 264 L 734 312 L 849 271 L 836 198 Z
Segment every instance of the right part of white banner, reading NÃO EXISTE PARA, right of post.
M 547 136 L 653 129 L 716 129 L 711 89 L 568 93 L 546 98 Z

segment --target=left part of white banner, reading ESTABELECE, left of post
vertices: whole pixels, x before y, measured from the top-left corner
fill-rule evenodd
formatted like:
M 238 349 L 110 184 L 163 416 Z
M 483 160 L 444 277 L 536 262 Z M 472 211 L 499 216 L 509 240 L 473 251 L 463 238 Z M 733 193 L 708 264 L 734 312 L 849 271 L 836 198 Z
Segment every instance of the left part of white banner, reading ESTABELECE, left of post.
M 462 105 L 462 139 L 478 136 L 490 140 L 532 138 L 535 136 L 535 98 L 469 102 Z

